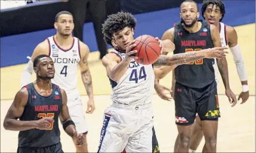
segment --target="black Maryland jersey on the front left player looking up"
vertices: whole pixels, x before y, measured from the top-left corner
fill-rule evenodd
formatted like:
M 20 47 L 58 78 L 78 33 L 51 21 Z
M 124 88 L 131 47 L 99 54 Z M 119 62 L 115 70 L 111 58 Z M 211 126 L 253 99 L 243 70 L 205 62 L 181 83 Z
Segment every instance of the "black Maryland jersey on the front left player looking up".
M 53 93 L 44 97 L 35 90 L 33 83 L 24 86 L 29 92 L 27 104 L 20 120 L 39 120 L 42 117 L 53 117 L 54 123 L 46 130 L 30 129 L 18 133 L 18 146 L 50 146 L 60 142 L 58 116 L 62 109 L 60 88 L 52 84 Z

